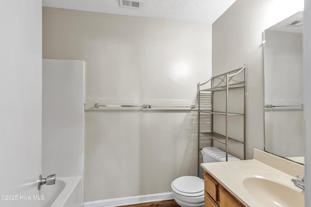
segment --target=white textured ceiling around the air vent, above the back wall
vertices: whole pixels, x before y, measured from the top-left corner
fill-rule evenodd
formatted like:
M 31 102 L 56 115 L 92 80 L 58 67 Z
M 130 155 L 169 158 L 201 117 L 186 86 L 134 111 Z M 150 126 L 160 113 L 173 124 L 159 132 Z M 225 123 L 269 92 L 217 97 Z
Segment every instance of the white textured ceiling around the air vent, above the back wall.
M 211 24 L 236 0 L 141 1 L 139 10 L 120 7 L 119 0 L 42 0 L 42 6 Z

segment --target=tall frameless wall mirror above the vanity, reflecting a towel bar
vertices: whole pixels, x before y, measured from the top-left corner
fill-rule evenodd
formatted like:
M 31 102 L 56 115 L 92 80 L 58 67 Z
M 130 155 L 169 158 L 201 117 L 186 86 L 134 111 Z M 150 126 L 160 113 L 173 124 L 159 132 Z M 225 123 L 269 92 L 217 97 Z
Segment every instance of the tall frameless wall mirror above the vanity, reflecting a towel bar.
M 303 11 L 264 31 L 264 150 L 304 163 Z

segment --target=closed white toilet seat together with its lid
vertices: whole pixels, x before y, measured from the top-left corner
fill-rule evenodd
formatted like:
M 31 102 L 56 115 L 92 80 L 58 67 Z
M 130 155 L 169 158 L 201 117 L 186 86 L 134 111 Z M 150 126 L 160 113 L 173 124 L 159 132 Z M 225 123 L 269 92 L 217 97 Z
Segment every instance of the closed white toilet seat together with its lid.
M 195 176 L 182 176 L 176 178 L 171 184 L 172 190 L 187 197 L 204 195 L 204 182 Z

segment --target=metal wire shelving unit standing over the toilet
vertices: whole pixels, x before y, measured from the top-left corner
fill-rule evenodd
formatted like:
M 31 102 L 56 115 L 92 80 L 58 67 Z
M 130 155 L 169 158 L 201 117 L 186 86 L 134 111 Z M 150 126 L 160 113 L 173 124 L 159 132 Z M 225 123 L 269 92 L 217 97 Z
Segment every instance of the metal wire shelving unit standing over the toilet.
M 197 85 L 197 98 L 198 98 L 198 152 L 200 152 L 200 134 L 211 139 L 213 142 L 225 144 L 226 161 L 228 160 L 228 145 L 229 144 L 242 144 L 243 145 L 243 159 L 246 157 L 246 99 L 247 99 L 247 66 L 211 77 L 204 83 Z M 207 88 L 204 88 L 207 87 Z M 228 94 L 229 91 L 234 89 L 243 89 L 243 113 L 229 112 L 228 110 Z M 225 109 L 222 111 L 214 111 L 214 92 L 225 91 Z M 202 114 L 210 114 L 209 131 L 202 127 Z M 225 133 L 220 134 L 214 132 L 214 115 L 225 116 Z M 228 136 L 228 117 L 229 116 L 243 116 L 243 138 L 242 141 L 233 139 Z M 200 126 L 201 124 L 201 126 Z M 199 163 L 199 156 L 198 156 Z M 198 165 L 199 166 L 199 165 Z M 199 168 L 199 167 L 198 167 Z M 199 172 L 199 171 L 198 171 Z

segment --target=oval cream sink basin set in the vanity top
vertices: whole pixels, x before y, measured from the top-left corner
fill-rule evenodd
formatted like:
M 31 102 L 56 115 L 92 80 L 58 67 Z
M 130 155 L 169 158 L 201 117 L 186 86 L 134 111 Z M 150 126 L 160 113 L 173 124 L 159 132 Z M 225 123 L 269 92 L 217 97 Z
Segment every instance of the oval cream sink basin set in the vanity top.
M 294 184 L 293 184 L 294 185 Z M 304 207 L 304 192 L 262 177 L 246 177 L 246 191 L 266 207 Z M 298 187 L 295 187 L 297 188 Z

